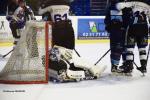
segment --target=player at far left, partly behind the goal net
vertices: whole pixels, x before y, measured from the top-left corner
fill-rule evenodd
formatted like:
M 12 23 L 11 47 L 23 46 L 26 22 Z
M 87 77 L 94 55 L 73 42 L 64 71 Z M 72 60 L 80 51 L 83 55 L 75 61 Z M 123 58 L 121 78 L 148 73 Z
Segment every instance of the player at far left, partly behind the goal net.
M 13 7 L 13 10 L 10 10 L 11 5 L 8 6 L 6 18 L 10 23 L 9 26 L 14 37 L 14 45 L 16 45 L 20 38 L 21 30 L 25 26 L 25 22 L 29 19 L 35 19 L 35 17 L 33 11 L 29 6 L 26 6 L 24 0 L 16 1 L 16 6 Z

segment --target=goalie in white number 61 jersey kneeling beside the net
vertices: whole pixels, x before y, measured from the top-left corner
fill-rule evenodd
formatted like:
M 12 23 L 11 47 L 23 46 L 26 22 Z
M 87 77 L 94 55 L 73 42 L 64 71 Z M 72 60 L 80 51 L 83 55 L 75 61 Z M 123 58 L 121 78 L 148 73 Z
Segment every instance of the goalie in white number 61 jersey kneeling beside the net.
M 69 3 L 66 0 L 49 0 L 44 1 L 39 9 L 39 14 L 42 14 L 43 19 L 52 21 L 52 41 L 53 48 L 50 50 L 50 69 L 54 69 L 59 77 L 67 74 L 62 80 L 76 80 L 86 78 L 85 70 L 89 70 L 92 77 L 99 77 L 102 68 L 97 66 L 78 66 L 75 65 L 73 59 L 73 49 L 75 48 L 75 36 L 71 20 L 69 20 Z M 55 58 L 55 59 L 54 59 Z M 57 58 L 57 59 L 56 59 Z M 65 66 L 65 67 L 64 67 Z M 64 73 L 62 70 L 65 70 Z M 52 76 L 54 71 L 50 70 Z M 54 77 L 54 75 L 52 76 Z M 58 77 L 55 77 L 58 78 Z M 59 79 L 60 80 L 60 79 Z

